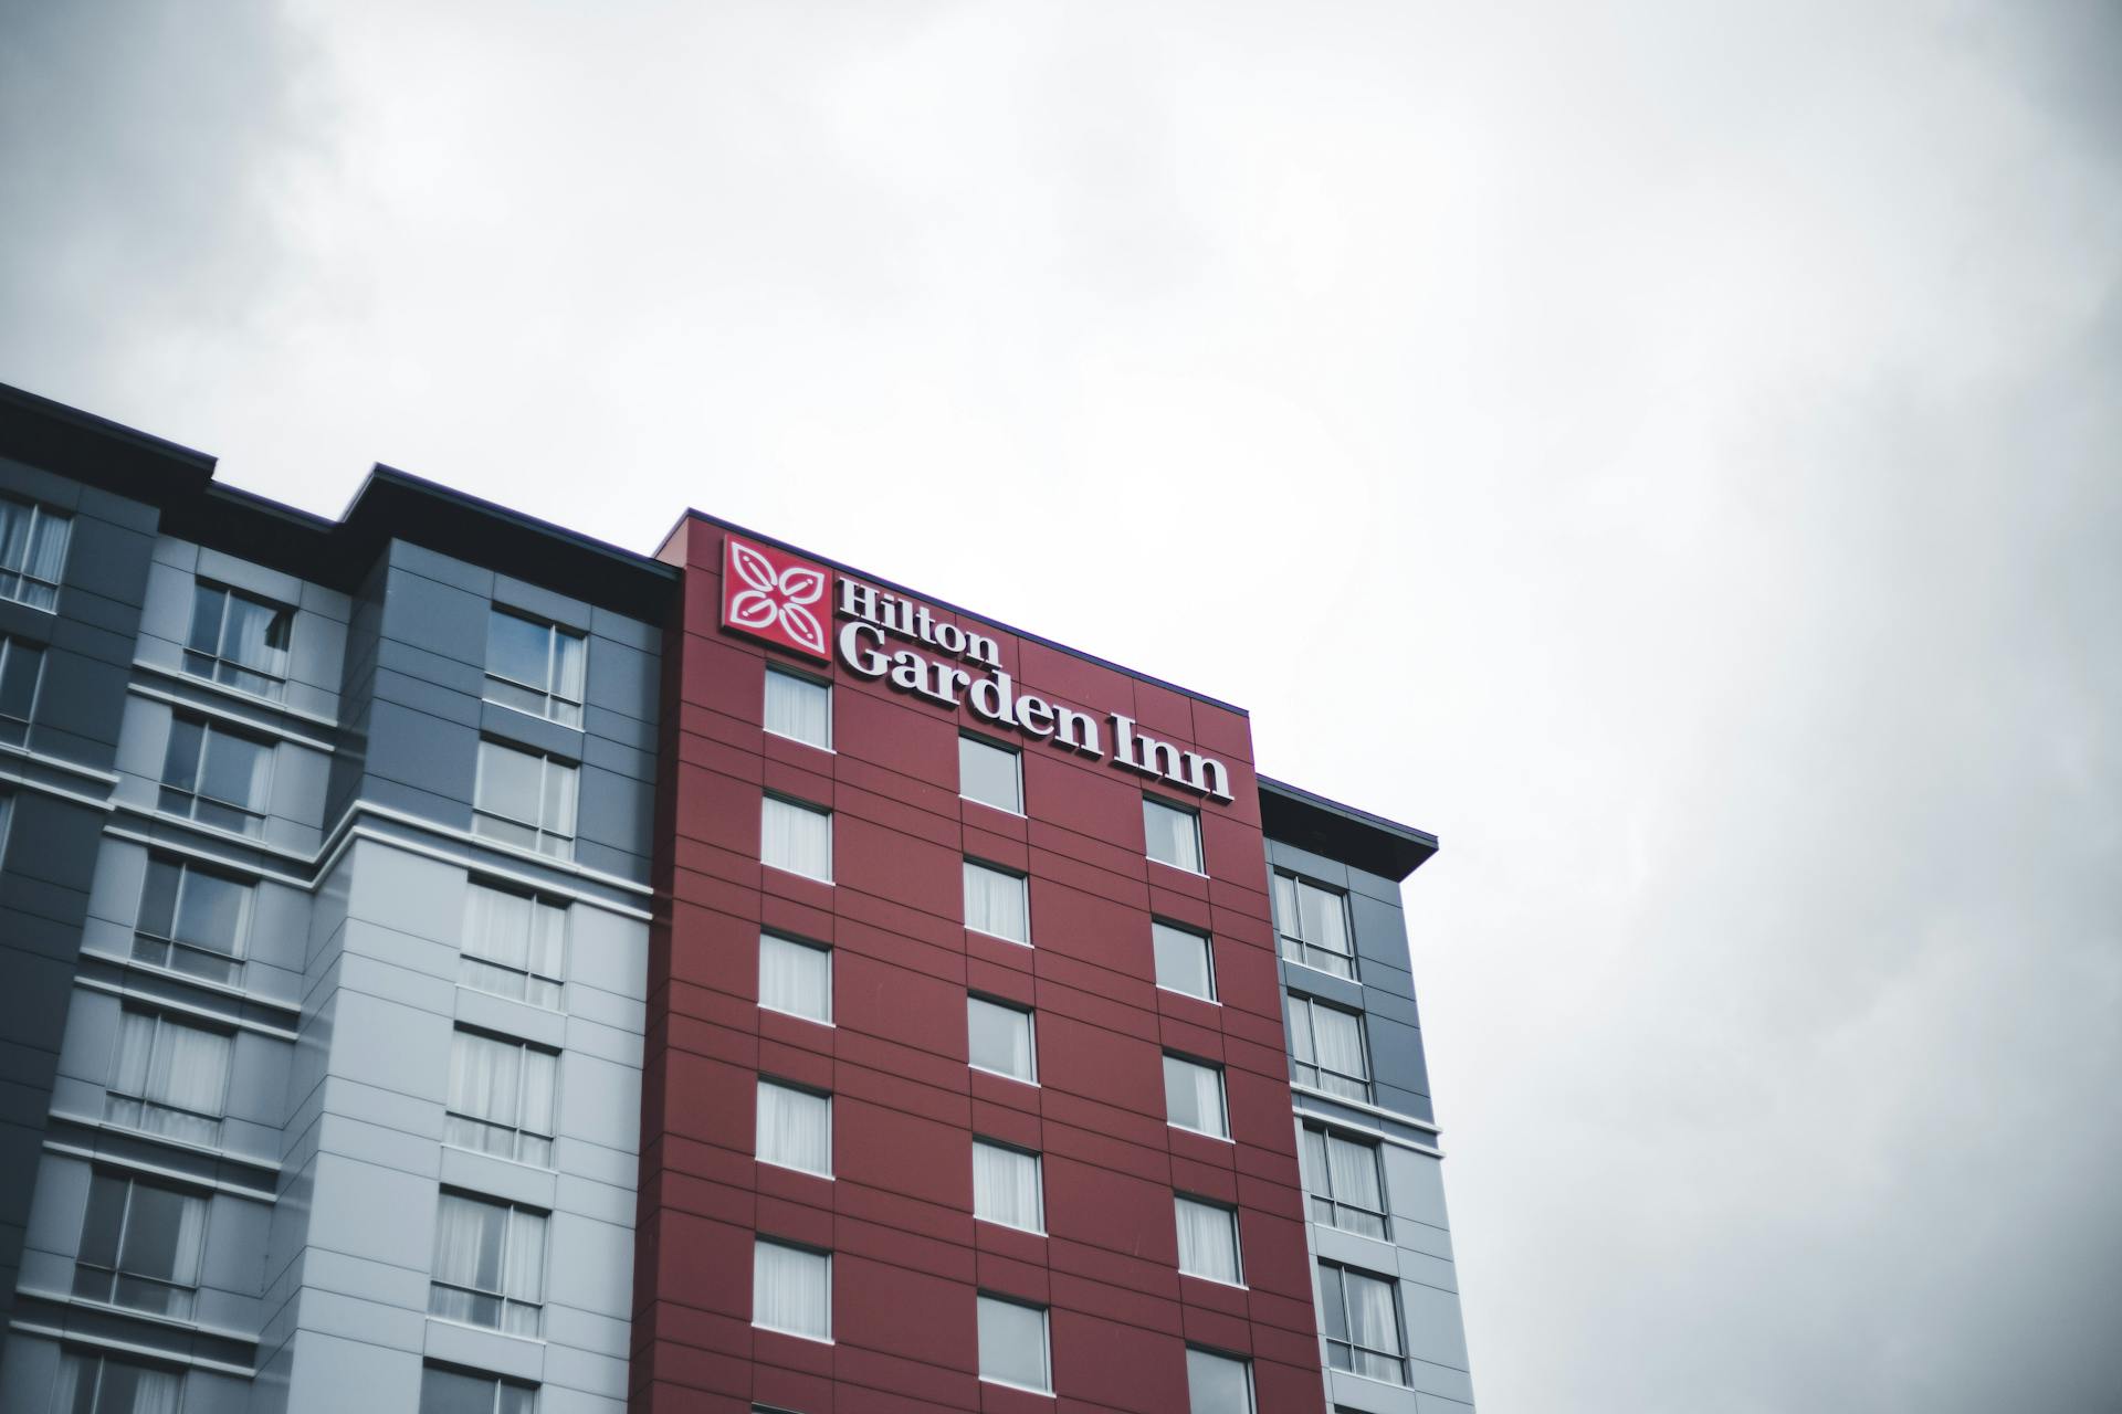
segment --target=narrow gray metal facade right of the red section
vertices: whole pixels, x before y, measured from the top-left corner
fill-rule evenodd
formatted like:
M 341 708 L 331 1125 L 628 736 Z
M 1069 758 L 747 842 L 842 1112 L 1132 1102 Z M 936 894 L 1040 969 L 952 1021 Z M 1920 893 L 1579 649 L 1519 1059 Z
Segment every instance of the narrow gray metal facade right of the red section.
M 1320 1221 L 1330 1204 L 1311 1200 L 1305 1234 L 1314 1257 L 1314 1297 L 1324 1310 L 1320 1263 L 1386 1278 L 1394 1289 L 1401 1380 L 1335 1369 L 1322 1333 L 1326 1403 L 1350 1414 L 1471 1414 L 1473 1378 L 1460 1316 L 1451 1223 L 1445 1217 L 1443 1151 L 1430 1081 L 1422 1060 L 1422 1022 L 1407 954 L 1407 922 L 1398 882 L 1294 844 L 1267 839 L 1269 869 L 1307 880 L 1341 897 L 1347 916 L 1354 977 L 1282 956 L 1284 1007 L 1324 1003 L 1360 1015 L 1369 1066 L 1369 1100 L 1292 1085 L 1297 1124 L 1373 1147 L 1381 1166 L 1381 1236 L 1347 1223 Z M 1277 920 L 1286 926 L 1286 920 Z M 1286 1018 L 1288 1020 L 1288 1018 Z M 1299 1136 L 1301 1141 L 1303 1136 Z M 1309 1174 L 1307 1174 L 1309 1181 Z M 1322 1316 L 1324 1325 L 1324 1316 Z

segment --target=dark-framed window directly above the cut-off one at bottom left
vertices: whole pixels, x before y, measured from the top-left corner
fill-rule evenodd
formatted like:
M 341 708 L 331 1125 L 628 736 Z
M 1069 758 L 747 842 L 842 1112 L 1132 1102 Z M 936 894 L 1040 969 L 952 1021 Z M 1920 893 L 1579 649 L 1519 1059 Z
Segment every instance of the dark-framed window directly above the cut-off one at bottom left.
M 189 1321 L 204 1249 L 204 1198 L 98 1170 L 81 1221 L 74 1295 Z

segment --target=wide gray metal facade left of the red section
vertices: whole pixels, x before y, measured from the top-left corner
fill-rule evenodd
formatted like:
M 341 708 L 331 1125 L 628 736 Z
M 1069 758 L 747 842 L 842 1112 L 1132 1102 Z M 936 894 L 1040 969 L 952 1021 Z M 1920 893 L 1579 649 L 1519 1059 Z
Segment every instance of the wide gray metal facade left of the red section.
M 70 517 L 53 611 L 0 587 L 0 634 L 42 649 L 25 742 L 0 744 L 0 1408 L 55 1408 L 110 1361 L 180 1378 L 185 1414 L 414 1410 L 429 1365 L 537 1386 L 545 1414 L 622 1410 L 660 630 L 403 538 L 335 589 L 21 460 L 0 494 Z M 199 583 L 293 611 L 276 695 L 187 664 Z M 581 636 L 579 727 L 486 700 L 497 604 Z M 255 823 L 172 808 L 174 729 L 265 748 Z M 571 848 L 475 833 L 482 740 L 577 767 Z M 225 975 L 142 941 L 174 933 L 151 867 L 248 899 Z M 460 984 L 475 886 L 562 909 L 556 1005 Z M 460 1030 L 556 1058 L 528 1162 L 448 1143 Z M 172 1132 L 121 1049 L 199 1035 L 225 1094 Z M 151 1234 L 142 1191 L 187 1213 L 189 1295 L 95 1285 L 85 1242 L 110 1194 Z M 429 1314 L 443 1194 L 543 1219 L 514 1333 Z

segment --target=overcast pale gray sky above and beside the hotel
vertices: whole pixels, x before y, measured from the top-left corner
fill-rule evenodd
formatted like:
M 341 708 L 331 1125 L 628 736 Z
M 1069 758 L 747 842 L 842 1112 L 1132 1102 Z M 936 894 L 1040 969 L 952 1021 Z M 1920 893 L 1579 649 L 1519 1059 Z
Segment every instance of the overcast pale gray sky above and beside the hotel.
M 1485 1414 L 2122 1408 L 2118 6 L 0 17 L 0 382 L 696 505 L 1437 831 Z

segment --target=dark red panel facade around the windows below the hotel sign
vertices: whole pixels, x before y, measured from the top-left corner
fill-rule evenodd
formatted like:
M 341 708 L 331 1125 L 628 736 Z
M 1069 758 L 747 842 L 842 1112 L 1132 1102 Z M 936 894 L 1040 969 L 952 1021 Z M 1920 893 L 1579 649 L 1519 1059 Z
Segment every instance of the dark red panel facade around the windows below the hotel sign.
M 728 538 L 692 515 L 664 549 L 685 613 L 664 653 L 632 1408 L 1173 1414 L 1193 1342 L 1252 1361 L 1258 1410 L 1322 1410 L 1246 717 L 927 604 L 993 638 L 1019 693 L 1089 712 L 1103 757 L 991 727 L 792 647 L 779 619 L 747 632 L 787 600 L 772 564 L 745 562 L 732 621 Z M 840 579 L 804 600 L 828 640 Z M 768 661 L 830 676 L 830 753 L 764 731 Z M 1222 761 L 1233 799 L 1116 767 L 1110 712 Z M 961 727 L 1023 748 L 1025 816 L 959 797 Z M 766 793 L 832 810 L 832 884 L 762 867 Z M 1210 878 L 1146 859 L 1144 793 L 1199 808 Z M 1029 948 L 966 929 L 966 856 L 1029 878 Z M 1210 931 L 1220 1005 L 1154 986 L 1152 916 Z M 762 926 L 832 948 L 832 1026 L 760 1009 Z M 968 990 L 1033 1007 L 1038 1085 L 968 1066 Z M 1224 1066 L 1231 1143 L 1165 1124 L 1165 1049 Z M 753 1157 L 760 1075 L 832 1094 L 832 1179 Z M 1044 1155 L 1046 1236 L 974 1221 L 974 1134 Z M 1237 1206 L 1243 1289 L 1178 1274 L 1173 1191 Z M 751 1325 L 755 1234 L 832 1253 L 830 1344 Z M 980 1291 L 1048 1306 L 1053 1397 L 980 1382 Z

